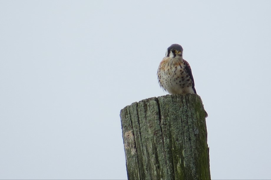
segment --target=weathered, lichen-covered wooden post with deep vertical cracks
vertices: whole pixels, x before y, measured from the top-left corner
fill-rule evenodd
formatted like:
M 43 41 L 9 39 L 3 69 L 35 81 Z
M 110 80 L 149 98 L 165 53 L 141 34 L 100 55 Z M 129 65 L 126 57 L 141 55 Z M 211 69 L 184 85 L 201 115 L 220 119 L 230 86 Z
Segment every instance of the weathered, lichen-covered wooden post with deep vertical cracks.
M 120 111 L 120 119 L 128 179 L 211 179 L 198 95 L 134 102 Z

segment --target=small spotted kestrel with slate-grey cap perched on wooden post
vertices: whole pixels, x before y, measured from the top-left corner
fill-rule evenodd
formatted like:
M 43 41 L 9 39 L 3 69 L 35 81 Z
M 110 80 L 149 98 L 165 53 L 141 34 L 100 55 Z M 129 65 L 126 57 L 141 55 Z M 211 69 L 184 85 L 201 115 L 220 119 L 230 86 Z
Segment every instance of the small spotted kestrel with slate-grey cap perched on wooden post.
M 183 48 L 179 44 L 168 47 L 157 75 L 160 87 L 170 94 L 196 94 L 190 65 L 183 59 Z

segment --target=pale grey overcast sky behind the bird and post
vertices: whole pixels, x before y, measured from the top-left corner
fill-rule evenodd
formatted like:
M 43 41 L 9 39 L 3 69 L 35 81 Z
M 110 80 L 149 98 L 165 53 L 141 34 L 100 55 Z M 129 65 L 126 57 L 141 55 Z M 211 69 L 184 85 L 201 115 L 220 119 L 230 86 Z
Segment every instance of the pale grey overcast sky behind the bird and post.
M 212 179 L 271 179 L 271 1 L 0 1 L 0 179 L 127 179 L 120 110 L 184 48 Z

